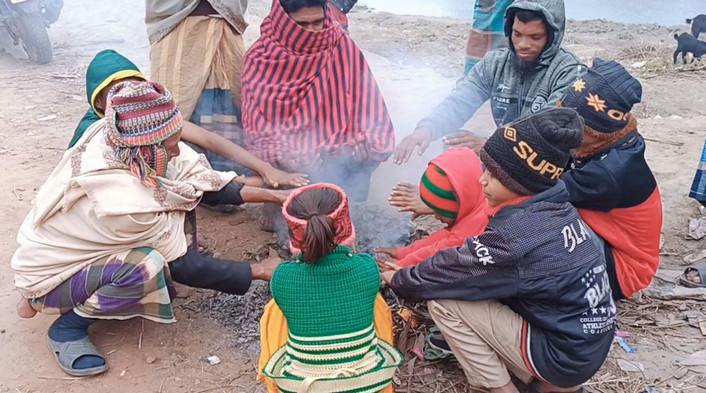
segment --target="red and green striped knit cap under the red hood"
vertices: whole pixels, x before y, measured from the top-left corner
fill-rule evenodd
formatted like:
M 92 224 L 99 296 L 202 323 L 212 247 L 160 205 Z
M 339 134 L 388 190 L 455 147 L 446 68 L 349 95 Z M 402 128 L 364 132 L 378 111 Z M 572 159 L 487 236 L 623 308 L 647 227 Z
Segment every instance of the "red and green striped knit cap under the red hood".
M 458 215 L 460 206 L 451 180 L 438 166 L 431 163 L 427 166 L 419 182 L 419 194 L 422 202 L 438 215 L 453 219 Z

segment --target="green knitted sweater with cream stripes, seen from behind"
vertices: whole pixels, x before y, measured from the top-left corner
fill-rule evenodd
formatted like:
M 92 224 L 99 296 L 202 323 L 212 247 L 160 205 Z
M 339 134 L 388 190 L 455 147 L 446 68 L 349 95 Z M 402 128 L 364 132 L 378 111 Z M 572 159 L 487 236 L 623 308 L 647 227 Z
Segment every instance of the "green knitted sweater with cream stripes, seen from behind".
M 263 373 L 279 391 L 375 393 L 404 357 L 373 324 L 380 271 L 367 254 L 339 246 L 314 263 L 285 262 L 270 282 L 289 335 Z

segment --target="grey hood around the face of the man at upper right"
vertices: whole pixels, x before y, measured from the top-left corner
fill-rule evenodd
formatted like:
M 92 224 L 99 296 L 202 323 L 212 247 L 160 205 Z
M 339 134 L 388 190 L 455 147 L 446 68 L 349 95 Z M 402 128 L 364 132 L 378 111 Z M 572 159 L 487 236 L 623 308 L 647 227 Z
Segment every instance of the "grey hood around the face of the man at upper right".
M 548 38 L 551 41 L 539 57 L 539 64 L 549 65 L 554 56 L 559 53 L 561 42 L 564 39 L 564 30 L 566 29 L 564 0 L 519 0 L 507 8 L 505 11 L 505 36 L 513 53 L 515 47 L 512 44 L 512 25 L 515 22 L 515 13 L 519 10 L 541 12 L 549 25 L 548 28 L 552 29 L 551 32 L 548 32 Z

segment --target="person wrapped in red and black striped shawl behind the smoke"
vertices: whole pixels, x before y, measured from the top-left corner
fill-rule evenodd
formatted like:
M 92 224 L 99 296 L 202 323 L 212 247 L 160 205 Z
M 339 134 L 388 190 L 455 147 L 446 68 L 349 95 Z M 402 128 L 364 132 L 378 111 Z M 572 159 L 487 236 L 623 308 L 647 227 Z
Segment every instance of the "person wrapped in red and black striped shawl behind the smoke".
M 368 197 L 395 145 L 385 101 L 360 48 L 326 0 L 274 0 L 245 55 L 247 149 L 276 167 Z

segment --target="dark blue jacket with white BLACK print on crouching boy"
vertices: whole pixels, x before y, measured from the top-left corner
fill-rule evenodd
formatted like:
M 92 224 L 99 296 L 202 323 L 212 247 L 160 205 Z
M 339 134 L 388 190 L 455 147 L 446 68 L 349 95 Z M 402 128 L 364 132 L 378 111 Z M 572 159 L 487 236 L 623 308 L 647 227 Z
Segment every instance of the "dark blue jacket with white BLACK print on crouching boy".
M 605 257 L 568 202 L 563 182 L 502 208 L 486 231 L 400 270 L 394 291 L 410 300 L 496 299 L 524 319 L 523 358 L 559 387 L 586 382 L 615 330 Z

